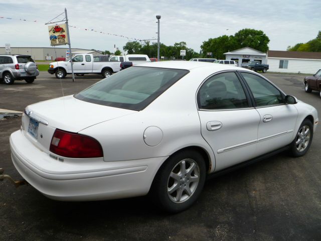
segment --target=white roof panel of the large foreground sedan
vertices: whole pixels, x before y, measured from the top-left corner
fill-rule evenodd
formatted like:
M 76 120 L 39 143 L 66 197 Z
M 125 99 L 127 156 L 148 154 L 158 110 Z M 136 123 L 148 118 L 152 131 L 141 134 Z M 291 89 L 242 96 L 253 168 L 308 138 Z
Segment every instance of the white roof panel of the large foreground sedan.
M 212 69 L 214 71 L 244 70 L 244 68 L 240 68 L 232 65 L 198 62 L 198 61 L 160 61 L 160 62 L 143 63 L 143 64 L 139 64 L 138 66 L 169 68 L 169 69 L 186 69 L 186 70 L 193 70 L 193 69 L 199 69 L 199 68 Z

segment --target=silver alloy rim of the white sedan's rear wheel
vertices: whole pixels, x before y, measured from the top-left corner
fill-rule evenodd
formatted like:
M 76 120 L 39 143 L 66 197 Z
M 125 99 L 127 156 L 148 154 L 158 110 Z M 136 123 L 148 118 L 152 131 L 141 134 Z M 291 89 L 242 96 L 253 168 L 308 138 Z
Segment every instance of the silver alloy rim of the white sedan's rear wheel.
M 171 171 L 167 193 L 175 203 L 187 201 L 196 191 L 200 181 L 200 168 L 193 159 L 180 161 Z

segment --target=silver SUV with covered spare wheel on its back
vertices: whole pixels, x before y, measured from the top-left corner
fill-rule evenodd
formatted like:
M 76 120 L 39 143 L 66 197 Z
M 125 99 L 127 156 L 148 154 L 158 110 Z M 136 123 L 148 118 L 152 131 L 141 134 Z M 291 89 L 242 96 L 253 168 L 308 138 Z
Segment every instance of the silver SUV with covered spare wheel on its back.
M 39 70 L 30 55 L 0 55 L 0 79 L 6 84 L 13 84 L 15 80 L 34 82 Z

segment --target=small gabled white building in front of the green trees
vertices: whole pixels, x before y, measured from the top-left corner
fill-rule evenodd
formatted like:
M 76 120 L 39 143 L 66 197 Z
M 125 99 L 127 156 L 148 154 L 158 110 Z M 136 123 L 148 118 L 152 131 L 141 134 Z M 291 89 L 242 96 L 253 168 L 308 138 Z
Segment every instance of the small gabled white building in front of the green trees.
M 250 47 L 245 47 L 242 49 L 233 50 L 231 52 L 224 53 L 226 60 L 235 60 L 238 62 L 239 67 L 244 62 L 249 61 L 259 61 L 262 64 L 266 64 L 266 53 L 252 49 Z

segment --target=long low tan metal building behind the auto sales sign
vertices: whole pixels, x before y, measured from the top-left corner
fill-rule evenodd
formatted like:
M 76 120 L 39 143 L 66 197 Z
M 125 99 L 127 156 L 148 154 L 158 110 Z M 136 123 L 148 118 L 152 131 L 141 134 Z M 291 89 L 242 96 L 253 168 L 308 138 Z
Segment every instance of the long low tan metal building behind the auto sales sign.
M 69 48 L 59 48 L 59 47 L 49 47 L 49 48 L 42 48 L 42 47 L 11 47 L 10 53 L 11 54 L 27 54 L 31 55 L 34 60 L 54 60 L 56 57 L 66 57 L 66 51 Z M 71 49 L 72 54 L 93 54 L 93 55 L 101 55 L 100 51 L 90 50 L 90 49 Z M 0 48 L 0 54 L 6 54 L 5 48 Z

